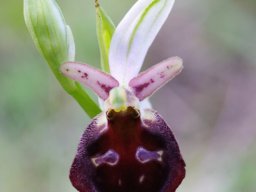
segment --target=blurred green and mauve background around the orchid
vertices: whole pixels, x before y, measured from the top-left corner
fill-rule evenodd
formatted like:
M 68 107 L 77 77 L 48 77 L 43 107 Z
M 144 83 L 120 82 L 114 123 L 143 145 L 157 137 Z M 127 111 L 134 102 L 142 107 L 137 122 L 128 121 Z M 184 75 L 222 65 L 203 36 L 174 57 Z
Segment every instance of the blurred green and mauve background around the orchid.
M 75 192 L 69 168 L 90 120 L 35 49 L 22 1 L 0 1 L 0 191 Z M 135 0 L 101 2 L 117 24 Z M 77 60 L 99 66 L 93 1 L 58 3 Z M 255 34 L 255 0 L 177 0 L 148 52 L 144 68 L 184 60 L 151 99 L 187 164 L 178 192 L 256 191 Z

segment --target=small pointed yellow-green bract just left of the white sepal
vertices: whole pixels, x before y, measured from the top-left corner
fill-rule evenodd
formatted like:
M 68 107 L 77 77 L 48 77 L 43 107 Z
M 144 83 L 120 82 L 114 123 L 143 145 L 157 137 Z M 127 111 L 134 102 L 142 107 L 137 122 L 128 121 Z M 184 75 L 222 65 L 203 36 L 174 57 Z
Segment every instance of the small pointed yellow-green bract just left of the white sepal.
M 110 17 L 100 7 L 98 0 L 95 1 L 95 7 L 97 37 L 101 56 L 101 68 L 103 71 L 109 73 L 109 47 L 113 33 L 115 31 L 115 26 Z

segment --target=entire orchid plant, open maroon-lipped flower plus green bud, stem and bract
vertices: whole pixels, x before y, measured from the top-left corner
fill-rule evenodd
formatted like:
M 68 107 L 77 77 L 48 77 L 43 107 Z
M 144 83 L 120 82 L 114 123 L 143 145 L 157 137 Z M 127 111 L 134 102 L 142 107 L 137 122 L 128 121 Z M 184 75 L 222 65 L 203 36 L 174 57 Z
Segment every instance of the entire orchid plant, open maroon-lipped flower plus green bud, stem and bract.
M 62 87 L 94 117 L 79 143 L 71 183 L 79 192 L 175 192 L 185 163 L 148 98 L 181 72 L 182 60 L 168 58 L 139 73 L 174 0 L 138 0 L 116 29 L 95 2 L 102 71 L 74 61 L 72 32 L 54 0 L 24 0 L 37 48 Z M 101 113 L 79 83 L 98 96 Z

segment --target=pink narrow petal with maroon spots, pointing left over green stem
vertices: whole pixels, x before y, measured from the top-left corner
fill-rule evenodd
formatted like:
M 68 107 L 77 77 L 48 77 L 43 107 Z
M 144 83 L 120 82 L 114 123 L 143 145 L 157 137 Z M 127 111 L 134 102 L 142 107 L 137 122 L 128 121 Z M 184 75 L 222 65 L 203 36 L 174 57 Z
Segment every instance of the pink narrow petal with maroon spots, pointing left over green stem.
M 61 66 L 61 72 L 71 79 L 90 87 L 101 99 L 106 100 L 109 91 L 119 83 L 111 75 L 87 64 L 69 62 Z

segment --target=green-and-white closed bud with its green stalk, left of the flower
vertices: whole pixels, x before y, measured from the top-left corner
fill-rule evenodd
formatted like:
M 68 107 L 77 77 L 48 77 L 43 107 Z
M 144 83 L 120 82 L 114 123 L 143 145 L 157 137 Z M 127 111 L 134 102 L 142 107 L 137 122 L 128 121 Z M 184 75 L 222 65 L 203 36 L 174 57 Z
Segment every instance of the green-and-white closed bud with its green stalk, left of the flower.
M 57 3 L 54 0 L 24 0 L 24 18 L 36 47 L 61 86 L 90 117 L 100 113 L 98 105 L 80 85 L 60 73 L 63 62 L 74 60 L 75 43 Z

